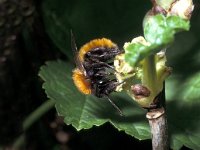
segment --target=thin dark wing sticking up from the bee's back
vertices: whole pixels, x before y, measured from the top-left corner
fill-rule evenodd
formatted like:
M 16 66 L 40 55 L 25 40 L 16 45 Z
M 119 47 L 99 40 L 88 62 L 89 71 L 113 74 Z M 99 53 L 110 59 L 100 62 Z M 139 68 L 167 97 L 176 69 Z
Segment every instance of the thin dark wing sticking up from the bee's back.
M 72 51 L 74 53 L 74 59 L 75 59 L 74 61 L 76 63 L 76 67 L 79 68 L 81 71 L 85 72 L 85 68 L 79 59 L 78 49 L 76 46 L 76 42 L 75 42 L 75 38 L 74 38 L 72 30 L 70 30 L 70 34 L 71 34 L 71 47 L 72 47 Z

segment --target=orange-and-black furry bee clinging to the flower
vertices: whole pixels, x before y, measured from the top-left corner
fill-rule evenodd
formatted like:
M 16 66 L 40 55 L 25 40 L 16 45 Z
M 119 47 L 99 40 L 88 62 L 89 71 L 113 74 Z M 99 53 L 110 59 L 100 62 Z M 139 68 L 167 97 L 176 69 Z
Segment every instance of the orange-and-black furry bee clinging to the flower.
M 72 79 L 77 89 L 85 95 L 92 94 L 98 98 L 108 99 L 122 116 L 122 111 L 109 95 L 121 84 L 114 75 L 113 61 L 115 56 L 123 51 L 107 38 L 94 39 L 78 51 L 72 32 L 71 46 L 75 52 L 76 62 Z

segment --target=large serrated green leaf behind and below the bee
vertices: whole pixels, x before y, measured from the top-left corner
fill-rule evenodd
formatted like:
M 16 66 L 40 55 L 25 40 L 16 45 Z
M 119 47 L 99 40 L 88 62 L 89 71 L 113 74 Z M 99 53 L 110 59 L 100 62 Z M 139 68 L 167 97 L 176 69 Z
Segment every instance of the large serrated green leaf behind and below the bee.
M 129 96 L 124 93 L 111 96 L 122 110 L 122 117 L 106 99 L 82 95 L 74 86 L 71 74 L 71 65 L 62 61 L 47 62 L 39 73 L 45 81 L 43 88 L 48 98 L 56 101 L 58 114 L 64 116 L 66 124 L 81 130 L 110 122 L 118 130 L 138 139 L 150 138 L 145 111 Z

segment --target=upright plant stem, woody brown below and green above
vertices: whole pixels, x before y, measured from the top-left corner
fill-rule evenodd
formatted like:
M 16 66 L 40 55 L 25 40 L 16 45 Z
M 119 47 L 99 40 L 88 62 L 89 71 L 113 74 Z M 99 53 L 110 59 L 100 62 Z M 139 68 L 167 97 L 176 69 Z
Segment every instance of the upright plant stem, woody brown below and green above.
M 144 59 L 143 62 L 143 85 L 147 86 L 151 94 L 156 96 L 157 93 L 157 73 L 155 56 L 151 55 Z M 163 85 L 164 87 L 164 85 Z M 151 108 L 151 105 L 153 106 Z M 165 88 L 156 96 L 149 106 L 146 117 L 149 121 L 152 136 L 153 150 L 168 150 L 168 127 L 165 111 Z

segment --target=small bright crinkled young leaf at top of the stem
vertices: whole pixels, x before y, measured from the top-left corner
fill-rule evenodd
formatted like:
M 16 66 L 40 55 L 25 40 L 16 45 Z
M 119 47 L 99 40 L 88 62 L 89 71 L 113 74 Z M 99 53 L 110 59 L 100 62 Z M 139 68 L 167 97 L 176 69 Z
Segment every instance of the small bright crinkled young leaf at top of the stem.
M 173 42 L 174 34 L 180 30 L 189 30 L 190 22 L 178 16 L 156 15 L 146 17 L 144 21 L 144 36 L 146 40 L 158 47 Z

